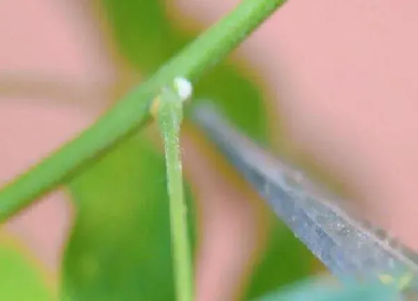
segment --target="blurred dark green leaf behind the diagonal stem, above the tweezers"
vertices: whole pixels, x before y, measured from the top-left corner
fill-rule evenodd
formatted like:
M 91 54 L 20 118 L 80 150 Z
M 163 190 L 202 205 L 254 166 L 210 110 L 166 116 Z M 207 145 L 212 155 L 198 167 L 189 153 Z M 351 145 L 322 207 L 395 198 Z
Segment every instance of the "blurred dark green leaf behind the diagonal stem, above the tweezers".
M 144 75 L 152 75 L 197 36 L 171 24 L 165 12 L 166 0 L 102 1 L 118 49 Z M 222 61 L 195 85 L 194 101 L 209 98 L 217 102 L 231 121 L 267 143 L 263 95 L 248 77 Z

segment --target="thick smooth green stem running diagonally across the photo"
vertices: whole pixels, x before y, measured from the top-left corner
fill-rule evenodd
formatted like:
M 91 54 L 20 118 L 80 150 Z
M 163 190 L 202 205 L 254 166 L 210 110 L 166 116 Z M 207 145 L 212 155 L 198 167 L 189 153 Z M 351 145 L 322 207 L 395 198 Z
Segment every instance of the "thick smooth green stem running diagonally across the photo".
M 231 52 L 282 3 L 284 0 L 242 0 L 232 13 L 127 94 L 79 137 L 6 185 L 0 192 L 0 222 L 70 180 L 95 157 L 144 127 L 150 121 L 150 103 L 162 86 L 174 77 L 201 76 L 203 70 Z

